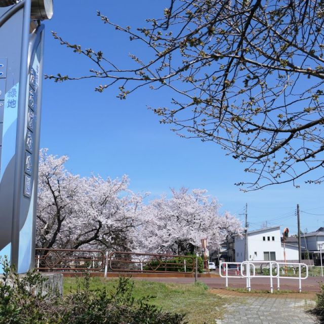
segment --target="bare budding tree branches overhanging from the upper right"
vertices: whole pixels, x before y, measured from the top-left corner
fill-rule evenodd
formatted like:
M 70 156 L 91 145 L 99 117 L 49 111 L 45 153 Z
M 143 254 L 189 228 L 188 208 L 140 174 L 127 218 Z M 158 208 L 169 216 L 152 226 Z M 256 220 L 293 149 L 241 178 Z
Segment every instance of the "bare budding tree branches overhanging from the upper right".
M 135 65 L 54 32 L 89 71 L 48 78 L 96 78 L 96 91 L 118 86 L 120 99 L 141 87 L 163 92 L 170 103 L 152 107 L 161 123 L 244 163 L 242 190 L 324 181 L 322 0 L 170 0 L 141 28 L 98 18 L 132 42 Z

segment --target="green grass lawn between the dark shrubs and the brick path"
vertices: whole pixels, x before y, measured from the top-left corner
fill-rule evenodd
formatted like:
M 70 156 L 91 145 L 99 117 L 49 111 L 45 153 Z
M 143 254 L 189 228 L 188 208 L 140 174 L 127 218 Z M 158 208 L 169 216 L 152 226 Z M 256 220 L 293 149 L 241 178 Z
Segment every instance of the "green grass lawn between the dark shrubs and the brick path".
M 64 295 L 76 289 L 75 278 L 64 278 Z M 116 279 L 90 278 L 91 289 L 105 287 L 108 291 L 113 290 Z M 228 302 L 227 297 L 220 297 L 208 291 L 207 286 L 197 284 L 164 284 L 145 280 L 134 280 L 134 297 L 148 295 L 156 296 L 152 303 L 164 310 L 178 313 L 186 313 L 186 320 L 190 324 L 203 324 L 204 322 L 215 324 L 215 319 L 222 318 L 224 305 Z

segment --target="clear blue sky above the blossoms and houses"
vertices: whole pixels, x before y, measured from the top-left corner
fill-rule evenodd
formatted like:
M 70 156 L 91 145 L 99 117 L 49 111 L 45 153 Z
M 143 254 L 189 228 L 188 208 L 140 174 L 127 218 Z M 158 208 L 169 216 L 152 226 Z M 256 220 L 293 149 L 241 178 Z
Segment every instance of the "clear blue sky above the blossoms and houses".
M 120 25 L 145 26 L 145 18 L 160 16 L 169 0 L 54 0 L 54 5 L 53 19 L 46 22 L 44 72 L 80 76 L 92 67 L 90 62 L 60 46 L 51 30 L 127 66 L 132 64 L 128 53 L 145 53 L 138 53 L 136 43 L 128 42 L 126 35 L 104 25 L 96 11 Z M 226 157 L 216 144 L 177 137 L 147 109 L 147 105 L 167 105 L 168 93 L 143 89 L 121 101 L 115 89 L 94 92 L 99 84 L 99 80 L 44 81 L 41 147 L 68 155 L 72 173 L 111 178 L 127 174 L 133 191 L 150 191 L 152 198 L 169 193 L 170 187 L 207 189 L 223 211 L 238 217 L 243 217 L 239 214 L 248 203 L 251 229 L 268 221 L 297 232 L 298 203 L 302 229 L 324 226 L 323 216 L 304 213 L 324 214 L 322 186 L 300 183 L 301 188 L 295 189 L 288 184 L 242 193 L 234 182 L 248 180 L 244 165 Z

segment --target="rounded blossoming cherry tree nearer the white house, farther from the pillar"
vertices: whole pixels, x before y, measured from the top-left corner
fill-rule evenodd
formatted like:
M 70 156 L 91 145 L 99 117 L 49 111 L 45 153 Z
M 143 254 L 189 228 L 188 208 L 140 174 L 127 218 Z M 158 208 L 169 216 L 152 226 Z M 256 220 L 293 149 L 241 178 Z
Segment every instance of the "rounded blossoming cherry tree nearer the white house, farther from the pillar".
M 240 221 L 228 212 L 220 215 L 219 208 L 207 190 L 172 190 L 171 198 L 152 200 L 143 209 L 143 224 L 134 228 L 137 249 L 182 255 L 201 247 L 205 237 L 208 248 L 216 249 L 227 235 L 242 231 Z

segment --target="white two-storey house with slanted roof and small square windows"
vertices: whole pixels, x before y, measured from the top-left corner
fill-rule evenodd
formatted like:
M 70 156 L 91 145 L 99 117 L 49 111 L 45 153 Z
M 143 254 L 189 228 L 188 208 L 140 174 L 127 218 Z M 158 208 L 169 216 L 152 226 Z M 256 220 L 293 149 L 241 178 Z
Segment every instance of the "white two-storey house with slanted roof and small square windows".
M 245 236 L 234 235 L 232 254 L 234 262 L 245 261 Z M 248 232 L 248 259 L 251 261 L 298 261 L 298 246 L 281 243 L 280 226 L 272 226 Z

